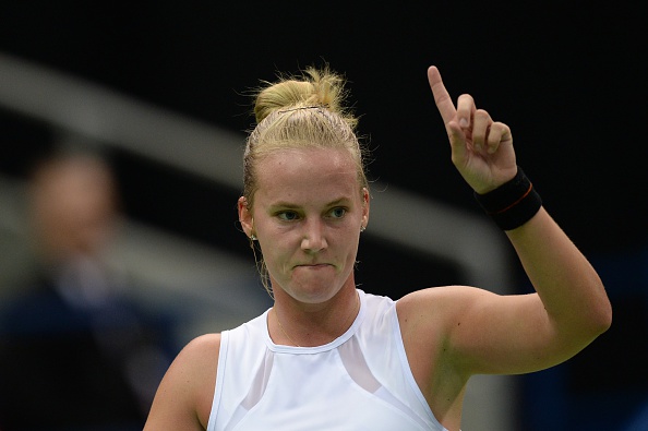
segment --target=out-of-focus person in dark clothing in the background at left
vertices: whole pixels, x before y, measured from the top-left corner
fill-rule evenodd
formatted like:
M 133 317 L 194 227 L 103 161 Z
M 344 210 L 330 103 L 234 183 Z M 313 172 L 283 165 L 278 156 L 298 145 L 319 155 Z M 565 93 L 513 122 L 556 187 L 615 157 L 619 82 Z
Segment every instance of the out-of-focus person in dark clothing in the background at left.
M 113 173 L 98 156 L 50 156 L 28 203 L 34 267 L 0 308 L 0 428 L 141 429 L 170 326 L 106 259 L 121 217 Z

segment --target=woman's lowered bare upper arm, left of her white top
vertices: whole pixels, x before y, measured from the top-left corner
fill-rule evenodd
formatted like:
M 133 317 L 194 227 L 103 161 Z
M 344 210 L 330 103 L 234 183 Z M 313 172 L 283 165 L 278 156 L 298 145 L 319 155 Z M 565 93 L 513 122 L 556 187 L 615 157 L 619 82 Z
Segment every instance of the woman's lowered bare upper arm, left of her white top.
M 190 342 L 165 374 L 144 430 L 196 430 L 207 427 L 216 382 L 220 335 Z

